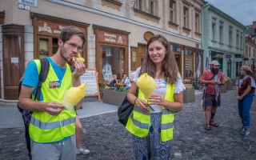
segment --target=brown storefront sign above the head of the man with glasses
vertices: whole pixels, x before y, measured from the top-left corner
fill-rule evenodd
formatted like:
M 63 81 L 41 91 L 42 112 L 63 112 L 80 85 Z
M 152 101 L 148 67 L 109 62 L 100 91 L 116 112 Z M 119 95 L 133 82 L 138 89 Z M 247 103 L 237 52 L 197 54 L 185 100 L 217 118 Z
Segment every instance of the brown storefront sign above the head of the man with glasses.
M 53 22 L 43 22 L 38 20 L 38 34 L 58 36 L 59 34 L 61 34 L 61 31 L 64 27 L 65 25 L 56 24 Z M 79 29 L 85 33 L 84 29 Z

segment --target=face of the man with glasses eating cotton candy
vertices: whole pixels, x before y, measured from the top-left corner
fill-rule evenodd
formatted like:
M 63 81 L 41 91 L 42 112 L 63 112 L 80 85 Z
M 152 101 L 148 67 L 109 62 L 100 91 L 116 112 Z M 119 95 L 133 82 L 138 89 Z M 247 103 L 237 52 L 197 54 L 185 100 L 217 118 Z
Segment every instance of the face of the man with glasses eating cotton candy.
M 66 42 L 59 40 L 61 45 L 60 54 L 67 63 L 71 64 L 73 57 L 82 51 L 82 39 L 78 35 L 73 35 Z

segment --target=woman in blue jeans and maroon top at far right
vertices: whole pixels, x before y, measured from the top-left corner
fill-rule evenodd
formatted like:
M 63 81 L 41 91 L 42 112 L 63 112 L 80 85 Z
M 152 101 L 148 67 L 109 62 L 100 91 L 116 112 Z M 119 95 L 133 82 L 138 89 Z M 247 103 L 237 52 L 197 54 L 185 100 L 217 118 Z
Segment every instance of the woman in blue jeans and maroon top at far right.
M 253 102 L 255 92 L 255 77 L 250 66 L 240 68 L 241 77 L 237 86 L 238 112 L 242 120 L 242 127 L 239 131 L 242 135 L 250 134 L 250 106 Z

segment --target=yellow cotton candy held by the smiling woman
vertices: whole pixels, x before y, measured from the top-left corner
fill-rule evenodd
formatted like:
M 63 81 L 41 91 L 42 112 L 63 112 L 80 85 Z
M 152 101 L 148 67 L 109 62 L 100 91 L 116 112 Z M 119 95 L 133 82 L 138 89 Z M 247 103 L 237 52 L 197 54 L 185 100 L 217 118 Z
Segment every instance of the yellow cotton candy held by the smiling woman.
M 142 74 L 137 80 L 137 86 L 142 91 L 144 98 L 148 99 L 155 89 L 154 78 L 146 73 Z

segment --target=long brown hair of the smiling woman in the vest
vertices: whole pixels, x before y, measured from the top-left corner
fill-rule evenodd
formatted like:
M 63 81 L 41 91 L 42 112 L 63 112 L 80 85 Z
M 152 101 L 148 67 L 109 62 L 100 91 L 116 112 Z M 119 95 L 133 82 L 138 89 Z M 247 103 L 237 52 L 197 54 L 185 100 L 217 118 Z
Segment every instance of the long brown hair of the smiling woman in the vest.
M 154 62 L 150 59 L 149 46 L 152 42 L 157 41 L 157 40 L 159 42 L 162 42 L 162 45 L 166 47 L 166 56 L 163 59 L 162 67 L 161 67 L 162 73 L 160 73 L 160 74 L 163 74 L 164 78 L 166 79 L 166 82 L 168 82 L 170 84 L 174 84 L 175 82 L 177 82 L 177 79 L 178 79 L 178 65 L 175 60 L 174 52 L 172 50 L 170 50 L 170 43 L 166 40 L 165 37 L 163 37 L 160 34 L 154 35 L 147 42 L 146 57 L 143 60 L 139 75 L 147 73 L 151 77 L 153 77 L 153 78 L 155 77 L 156 66 L 155 66 Z

